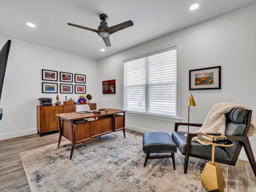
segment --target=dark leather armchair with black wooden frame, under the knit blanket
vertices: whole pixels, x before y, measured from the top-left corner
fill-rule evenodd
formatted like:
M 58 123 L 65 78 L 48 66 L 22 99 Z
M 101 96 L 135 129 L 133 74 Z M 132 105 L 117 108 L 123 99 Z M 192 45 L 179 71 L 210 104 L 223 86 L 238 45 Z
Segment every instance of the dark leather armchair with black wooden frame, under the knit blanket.
M 249 139 L 247 137 L 248 130 L 250 128 L 252 110 L 245 110 L 240 108 L 234 108 L 226 114 L 226 136 L 234 142 L 231 147 L 215 147 L 215 162 L 235 165 L 242 149 L 246 152 L 252 170 L 256 176 L 256 162 L 250 146 Z M 185 155 L 184 173 L 187 173 L 189 156 L 196 157 L 205 160 L 211 160 L 212 146 L 202 145 L 196 141 L 192 141 L 192 138 L 197 136 L 198 133 L 180 132 L 178 126 L 196 126 L 200 127 L 202 124 L 195 123 L 175 123 L 174 132 L 172 132 L 172 140 L 182 155 Z M 187 136 L 184 136 L 187 133 Z

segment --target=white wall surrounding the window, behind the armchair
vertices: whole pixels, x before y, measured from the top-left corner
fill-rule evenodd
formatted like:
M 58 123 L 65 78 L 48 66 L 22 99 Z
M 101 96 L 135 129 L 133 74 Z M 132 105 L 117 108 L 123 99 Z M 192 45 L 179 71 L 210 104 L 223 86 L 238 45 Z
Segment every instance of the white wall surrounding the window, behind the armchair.
M 123 108 L 123 61 L 150 52 L 177 46 L 178 118 L 150 118 L 126 115 L 126 128 L 140 132 L 174 130 L 174 123 L 188 119 L 188 98 L 193 94 L 196 107 L 190 108 L 190 122 L 202 123 L 218 102 L 235 102 L 252 109 L 256 116 L 256 4 L 169 34 L 100 60 L 100 82 L 116 79 L 116 94 L 99 94 L 100 107 Z M 132 38 L 132 37 L 131 37 Z M 189 90 L 189 70 L 221 66 L 220 90 Z M 101 88 L 99 87 L 99 93 Z M 256 155 L 256 135 L 250 138 Z M 244 152 L 240 158 L 247 159 Z

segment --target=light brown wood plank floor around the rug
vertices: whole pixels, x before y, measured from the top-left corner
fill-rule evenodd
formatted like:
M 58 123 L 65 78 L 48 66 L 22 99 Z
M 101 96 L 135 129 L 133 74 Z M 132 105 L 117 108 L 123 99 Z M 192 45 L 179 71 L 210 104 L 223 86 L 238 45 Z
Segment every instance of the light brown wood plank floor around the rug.
M 141 136 L 142 133 L 126 129 L 126 133 Z M 65 138 L 62 137 L 62 140 Z M 58 133 L 40 137 L 32 134 L 0 141 L 0 192 L 30 192 L 20 159 L 20 152 L 58 143 Z M 256 177 L 249 162 L 238 160 L 228 168 L 227 192 L 256 191 Z

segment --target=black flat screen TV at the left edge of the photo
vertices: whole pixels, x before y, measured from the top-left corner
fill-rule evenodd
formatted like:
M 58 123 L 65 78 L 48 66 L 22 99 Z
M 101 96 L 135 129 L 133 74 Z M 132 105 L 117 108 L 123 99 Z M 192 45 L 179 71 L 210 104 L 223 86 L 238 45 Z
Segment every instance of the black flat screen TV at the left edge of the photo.
M 9 55 L 11 40 L 8 40 L 6 44 L 0 50 L 0 100 L 2 95 L 2 88 L 4 84 L 4 74 L 6 70 L 7 59 Z

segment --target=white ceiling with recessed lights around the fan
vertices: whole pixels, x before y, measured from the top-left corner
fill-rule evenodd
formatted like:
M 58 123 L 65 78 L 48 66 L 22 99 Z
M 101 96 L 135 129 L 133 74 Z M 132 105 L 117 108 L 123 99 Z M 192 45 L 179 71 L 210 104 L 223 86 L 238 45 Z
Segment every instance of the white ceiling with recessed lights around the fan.
M 193 3 L 197 10 L 189 10 Z M 0 34 L 96 60 L 236 10 L 256 0 L 0 0 Z M 108 26 L 134 26 L 110 35 L 106 47 L 97 33 L 100 14 Z M 34 23 L 35 28 L 26 25 Z M 100 49 L 105 48 L 105 52 Z

